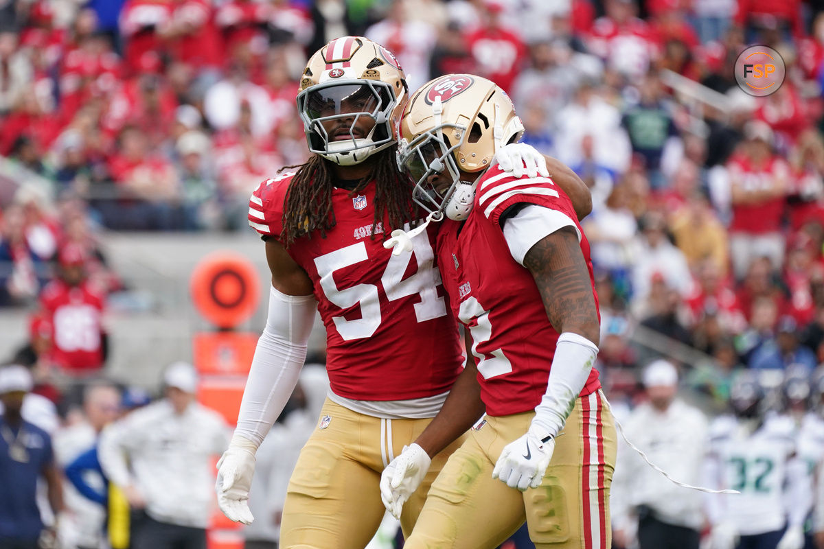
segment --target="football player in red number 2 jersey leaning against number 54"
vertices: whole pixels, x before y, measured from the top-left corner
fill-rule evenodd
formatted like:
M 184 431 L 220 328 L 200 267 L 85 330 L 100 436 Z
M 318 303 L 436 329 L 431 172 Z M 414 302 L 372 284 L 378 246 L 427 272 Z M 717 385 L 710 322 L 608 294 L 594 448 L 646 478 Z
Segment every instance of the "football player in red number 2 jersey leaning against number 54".
M 450 394 L 383 472 L 392 514 L 452 442 L 453 414 L 479 394 L 486 408 L 433 483 L 407 548 L 497 547 L 525 519 L 536 547 L 610 547 L 616 431 L 592 370 L 599 320 L 589 244 L 555 180 L 563 166 L 551 178 L 518 178 L 494 165 L 519 128 L 503 90 L 468 74 L 428 82 L 400 119 L 399 161 L 415 202 L 452 220 L 436 255 L 473 340 L 456 387 L 477 384 L 474 395 Z M 396 251 L 408 245 L 404 235 L 396 242 Z

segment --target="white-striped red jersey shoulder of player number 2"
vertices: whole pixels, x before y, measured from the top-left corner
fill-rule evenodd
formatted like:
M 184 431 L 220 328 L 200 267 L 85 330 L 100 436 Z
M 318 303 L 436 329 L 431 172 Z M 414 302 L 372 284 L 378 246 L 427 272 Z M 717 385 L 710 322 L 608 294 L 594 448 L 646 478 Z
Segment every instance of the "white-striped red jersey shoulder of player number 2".
M 494 165 L 480 178 L 475 189 L 475 207 L 485 218 L 497 222 L 506 208 L 517 202 L 532 202 L 556 210 L 572 210 L 566 194 L 551 177 L 515 177 Z M 564 206 L 568 203 L 568 207 Z M 575 217 L 573 216 L 573 219 Z

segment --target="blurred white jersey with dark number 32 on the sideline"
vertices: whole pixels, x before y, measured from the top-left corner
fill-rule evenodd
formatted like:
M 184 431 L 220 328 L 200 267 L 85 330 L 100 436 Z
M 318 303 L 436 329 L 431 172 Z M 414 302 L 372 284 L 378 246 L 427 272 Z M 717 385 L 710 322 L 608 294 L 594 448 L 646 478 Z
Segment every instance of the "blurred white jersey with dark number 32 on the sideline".
M 784 482 L 796 450 L 793 421 L 769 417 L 750 432 L 746 422 L 722 416 L 712 423 L 709 434 L 709 482 L 741 492 L 713 495 L 713 523 L 732 523 L 742 535 L 784 528 L 788 514 Z

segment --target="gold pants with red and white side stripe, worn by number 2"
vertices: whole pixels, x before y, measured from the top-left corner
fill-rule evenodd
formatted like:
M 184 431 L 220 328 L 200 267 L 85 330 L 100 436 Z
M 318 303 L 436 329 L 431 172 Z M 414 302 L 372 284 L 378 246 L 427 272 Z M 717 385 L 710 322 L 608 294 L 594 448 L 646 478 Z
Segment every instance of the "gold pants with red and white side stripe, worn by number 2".
M 485 416 L 434 482 L 405 549 L 494 548 L 524 520 L 537 549 L 608 549 L 616 430 L 602 398 L 600 391 L 578 398 L 541 486 L 525 492 L 492 471 L 535 412 Z

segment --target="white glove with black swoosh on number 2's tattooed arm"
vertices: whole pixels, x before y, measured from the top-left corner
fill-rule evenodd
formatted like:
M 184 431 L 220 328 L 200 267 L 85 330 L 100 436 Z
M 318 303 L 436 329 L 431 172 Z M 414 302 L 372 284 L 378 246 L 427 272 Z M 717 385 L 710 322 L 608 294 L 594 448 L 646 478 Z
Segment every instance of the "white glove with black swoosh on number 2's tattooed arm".
M 553 450 L 555 437 L 533 425 L 521 438 L 503 447 L 492 477 L 520 491 L 537 488 L 550 465 Z

